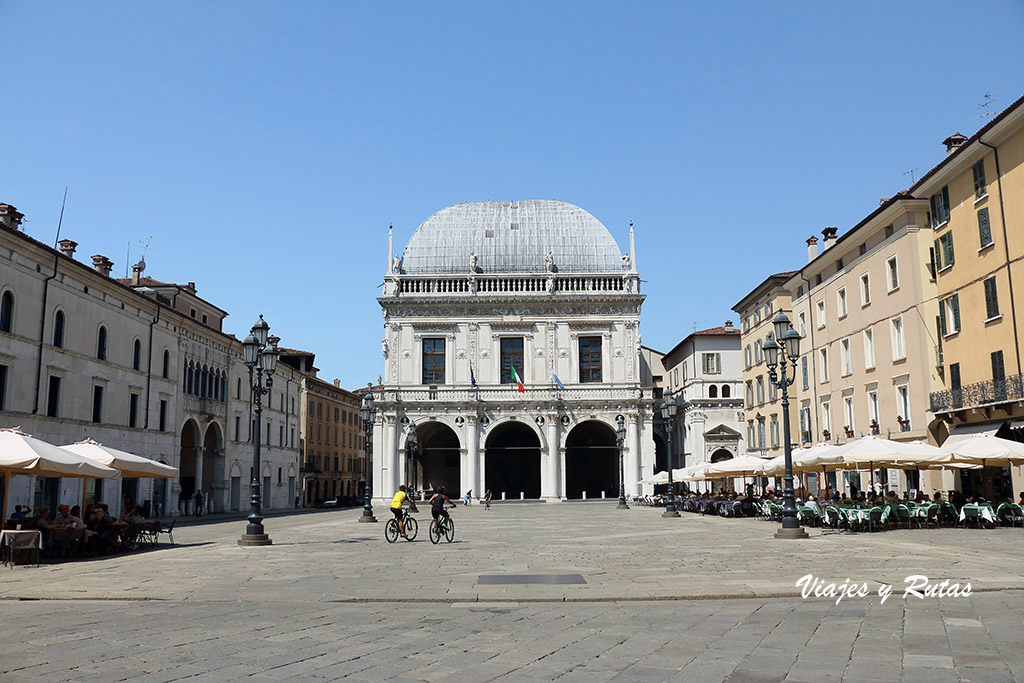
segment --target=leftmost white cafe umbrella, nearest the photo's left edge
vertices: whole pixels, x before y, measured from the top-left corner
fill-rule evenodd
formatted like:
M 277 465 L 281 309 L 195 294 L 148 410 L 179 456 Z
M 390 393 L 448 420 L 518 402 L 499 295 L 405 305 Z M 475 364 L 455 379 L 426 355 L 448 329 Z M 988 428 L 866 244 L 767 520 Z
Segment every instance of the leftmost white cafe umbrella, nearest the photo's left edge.
M 40 476 L 93 477 L 110 479 L 120 471 L 95 461 L 33 438 L 19 429 L 0 429 L 0 474 L 6 477 L 4 517 L 10 477 L 14 474 Z

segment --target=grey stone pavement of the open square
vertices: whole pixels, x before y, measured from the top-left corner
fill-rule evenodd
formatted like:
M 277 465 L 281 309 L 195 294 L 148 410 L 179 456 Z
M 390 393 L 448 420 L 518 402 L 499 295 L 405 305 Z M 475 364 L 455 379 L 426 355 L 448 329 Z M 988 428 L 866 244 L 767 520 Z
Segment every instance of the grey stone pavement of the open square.
M 0 679 L 40 681 L 1024 680 L 1024 530 L 811 529 L 506 504 L 456 542 L 388 545 L 359 511 L 185 525 L 177 545 L 0 572 Z M 581 574 L 584 584 L 479 584 Z M 867 584 L 800 597 L 797 581 Z M 970 582 L 903 597 L 904 579 Z M 885 601 L 880 587 L 893 586 Z

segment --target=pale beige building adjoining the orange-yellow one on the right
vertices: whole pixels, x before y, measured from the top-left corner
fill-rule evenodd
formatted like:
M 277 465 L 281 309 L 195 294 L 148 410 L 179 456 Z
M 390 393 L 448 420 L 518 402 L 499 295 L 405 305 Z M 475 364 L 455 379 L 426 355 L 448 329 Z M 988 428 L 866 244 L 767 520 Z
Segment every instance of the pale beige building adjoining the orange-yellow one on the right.
M 803 336 L 793 385 L 800 442 L 927 439 L 929 395 L 941 386 L 927 200 L 900 194 L 842 238 L 835 227 L 822 234 L 823 250 L 808 240 L 809 263 L 785 284 Z M 869 478 L 849 481 L 862 488 Z M 927 493 L 940 485 L 915 472 L 880 478 Z

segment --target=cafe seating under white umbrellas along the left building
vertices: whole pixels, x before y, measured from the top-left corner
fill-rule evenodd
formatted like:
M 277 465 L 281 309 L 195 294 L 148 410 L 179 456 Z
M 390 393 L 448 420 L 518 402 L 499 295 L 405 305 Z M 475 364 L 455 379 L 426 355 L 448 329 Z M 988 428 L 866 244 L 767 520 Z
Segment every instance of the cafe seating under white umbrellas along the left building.
M 55 510 L 42 506 L 10 505 L 14 476 L 113 479 L 121 477 L 176 477 L 178 470 L 86 439 L 57 446 L 18 429 L 0 429 L 0 476 L 3 477 L 3 528 L 0 558 L 5 565 L 39 564 L 41 559 L 63 561 L 156 546 L 161 535 L 173 542 L 173 522 L 146 519 L 140 506 L 129 502 L 118 518 L 100 501 L 82 505 L 59 503 Z M 85 498 L 86 487 L 82 487 Z M 82 510 L 85 510 L 84 514 Z

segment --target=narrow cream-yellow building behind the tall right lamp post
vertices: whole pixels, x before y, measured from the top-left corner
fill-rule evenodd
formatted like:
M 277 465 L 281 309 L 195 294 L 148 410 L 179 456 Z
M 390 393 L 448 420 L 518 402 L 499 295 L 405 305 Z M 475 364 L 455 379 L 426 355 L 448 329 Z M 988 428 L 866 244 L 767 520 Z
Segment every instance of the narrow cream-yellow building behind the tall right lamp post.
M 746 451 L 766 458 L 783 453 L 782 393 L 771 383 L 762 344 L 774 336 L 772 319 L 779 313 L 793 318 L 792 296 L 784 284 L 796 271 L 769 275 L 732 307 L 739 314 L 743 353 L 743 424 Z M 792 395 L 792 394 L 791 394 Z M 801 442 L 798 401 L 790 400 L 790 440 Z

